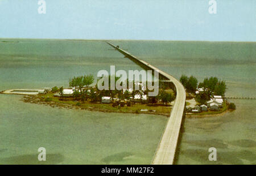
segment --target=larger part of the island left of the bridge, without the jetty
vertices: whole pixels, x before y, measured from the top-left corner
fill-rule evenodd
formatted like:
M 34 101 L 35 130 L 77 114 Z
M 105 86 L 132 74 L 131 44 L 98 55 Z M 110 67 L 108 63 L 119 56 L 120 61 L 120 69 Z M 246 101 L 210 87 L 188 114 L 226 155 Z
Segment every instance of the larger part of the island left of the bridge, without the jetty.
M 119 77 L 115 76 L 115 81 Z M 110 80 L 110 79 L 109 79 Z M 98 81 L 98 80 L 97 80 Z M 133 81 L 133 89 L 99 90 L 92 86 L 92 75 L 77 76 L 69 80 L 69 88 L 44 88 L 36 95 L 26 95 L 24 102 L 50 105 L 53 108 L 85 109 L 109 113 L 146 113 L 169 117 L 175 92 L 160 84 L 158 96 L 148 96 L 147 86 Z M 127 85 L 129 84 L 127 80 Z M 110 84 L 109 84 L 110 85 Z M 139 90 L 135 90 L 135 86 Z

